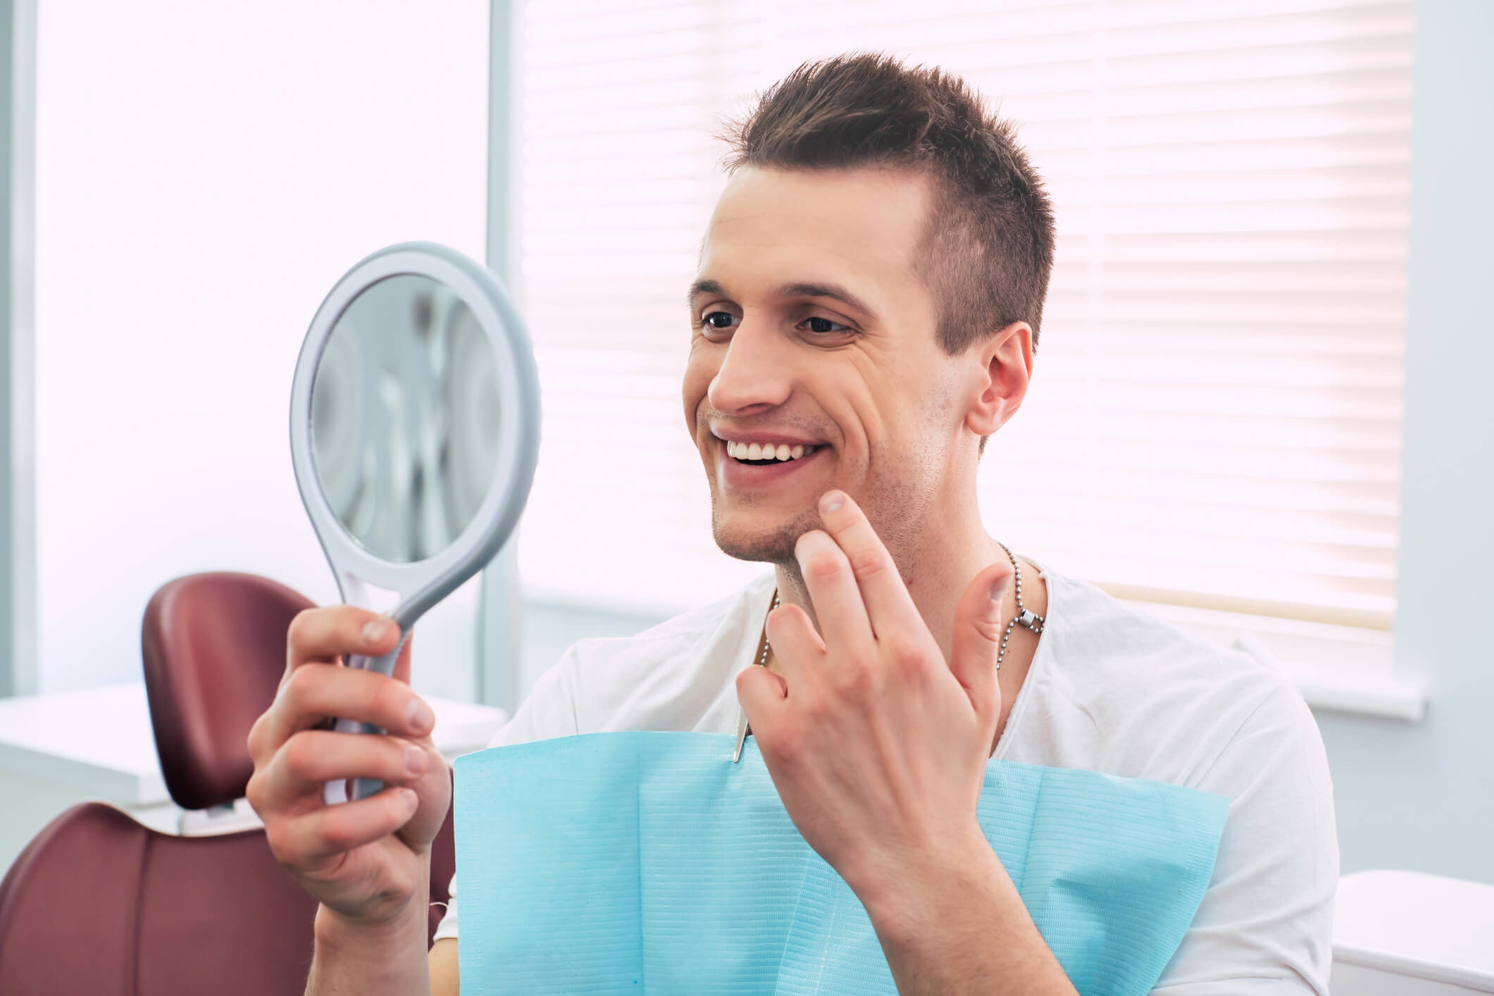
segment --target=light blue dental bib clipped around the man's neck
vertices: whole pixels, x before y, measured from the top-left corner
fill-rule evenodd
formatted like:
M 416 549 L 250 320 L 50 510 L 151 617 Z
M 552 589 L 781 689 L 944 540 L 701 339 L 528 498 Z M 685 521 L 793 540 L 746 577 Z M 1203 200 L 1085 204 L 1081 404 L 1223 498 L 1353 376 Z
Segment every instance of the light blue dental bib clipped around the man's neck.
M 896 987 L 753 741 L 593 733 L 456 762 L 462 992 L 798 996 Z M 1074 987 L 1140 995 L 1203 900 L 1230 800 L 991 762 L 980 826 Z M 992 936 L 991 944 L 1001 944 Z

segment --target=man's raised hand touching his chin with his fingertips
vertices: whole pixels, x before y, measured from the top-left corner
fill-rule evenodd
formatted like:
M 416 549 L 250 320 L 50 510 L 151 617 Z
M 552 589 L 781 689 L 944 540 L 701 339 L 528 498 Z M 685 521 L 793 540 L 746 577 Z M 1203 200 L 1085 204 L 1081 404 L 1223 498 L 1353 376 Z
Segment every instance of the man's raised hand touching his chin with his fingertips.
M 783 675 L 748 667 L 737 693 L 774 785 L 805 841 L 862 897 L 986 845 L 976 821 L 1001 688 L 1007 560 L 980 570 L 955 615 L 952 657 L 852 499 L 820 499 L 825 530 L 795 555 L 814 614 L 768 617 Z

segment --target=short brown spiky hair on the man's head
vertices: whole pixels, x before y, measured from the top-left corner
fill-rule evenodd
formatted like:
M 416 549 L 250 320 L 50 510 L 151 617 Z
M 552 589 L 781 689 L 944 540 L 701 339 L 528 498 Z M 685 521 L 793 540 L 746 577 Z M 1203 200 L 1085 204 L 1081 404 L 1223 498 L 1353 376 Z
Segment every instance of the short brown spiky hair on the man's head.
M 729 172 L 902 167 L 934 179 L 920 258 L 958 354 L 1014 321 L 1037 346 L 1053 269 L 1053 211 L 1010 122 L 959 76 L 850 54 L 804 63 L 728 125 Z

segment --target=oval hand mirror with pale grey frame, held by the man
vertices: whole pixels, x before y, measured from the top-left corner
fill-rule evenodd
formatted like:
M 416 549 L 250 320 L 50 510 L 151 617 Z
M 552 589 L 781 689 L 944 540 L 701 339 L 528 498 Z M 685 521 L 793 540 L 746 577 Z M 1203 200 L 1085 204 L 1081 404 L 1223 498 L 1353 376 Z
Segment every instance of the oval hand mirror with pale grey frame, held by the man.
M 388 614 L 402 635 L 390 654 L 347 664 L 391 675 L 415 620 L 514 532 L 535 475 L 533 351 L 487 267 L 406 242 L 348 270 L 296 361 L 290 452 L 342 600 Z M 353 797 L 379 787 L 359 779 Z M 344 782 L 326 799 L 344 802 Z

